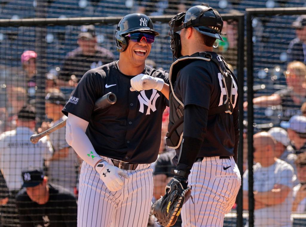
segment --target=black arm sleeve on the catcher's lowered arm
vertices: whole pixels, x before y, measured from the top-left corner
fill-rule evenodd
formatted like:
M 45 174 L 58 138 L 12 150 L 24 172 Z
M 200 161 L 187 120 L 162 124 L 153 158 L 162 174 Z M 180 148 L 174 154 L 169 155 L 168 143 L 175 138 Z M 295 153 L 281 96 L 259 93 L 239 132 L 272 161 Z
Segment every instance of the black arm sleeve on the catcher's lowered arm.
M 177 169 L 190 173 L 206 133 L 208 110 L 201 106 L 187 105 L 184 109 L 184 131 Z

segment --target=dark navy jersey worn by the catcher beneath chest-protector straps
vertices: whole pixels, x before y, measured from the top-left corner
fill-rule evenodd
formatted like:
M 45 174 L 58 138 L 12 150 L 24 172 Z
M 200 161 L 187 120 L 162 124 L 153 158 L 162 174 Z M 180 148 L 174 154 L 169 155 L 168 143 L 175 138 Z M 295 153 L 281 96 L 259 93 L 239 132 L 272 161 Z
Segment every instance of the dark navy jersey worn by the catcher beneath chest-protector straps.
M 215 52 L 210 53 L 213 58 L 217 58 Z M 195 60 L 182 68 L 177 74 L 174 89 L 177 98 L 184 103 L 184 106 L 196 105 L 209 110 L 221 106 L 226 100 L 221 72 L 212 61 Z M 235 81 L 232 103 L 233 114 L 222 112 L 208 116 L 207 131 L 198 157 L 234 155 L 234 149 L 238 144 L 237 134 L 239 134 L 238 93 Z M 184 119 L 185 117 L 189 116 L 185 115 Z

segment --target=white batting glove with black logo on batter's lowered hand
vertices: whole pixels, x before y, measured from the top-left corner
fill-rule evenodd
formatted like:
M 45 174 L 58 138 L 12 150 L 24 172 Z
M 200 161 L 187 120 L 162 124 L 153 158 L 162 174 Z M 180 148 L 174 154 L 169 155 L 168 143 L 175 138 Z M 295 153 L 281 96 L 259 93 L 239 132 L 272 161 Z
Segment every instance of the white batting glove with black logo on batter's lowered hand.
M 122 188 L 123 180 L 121 177 L 130 179 L 129 175 L 123 172 L 122 169 L 111 166 L 105 161 L 98 163 L 95 170 L 100 174 L 100 179 L 103 180 L 104 184 L 111 192 L 116 192 Z

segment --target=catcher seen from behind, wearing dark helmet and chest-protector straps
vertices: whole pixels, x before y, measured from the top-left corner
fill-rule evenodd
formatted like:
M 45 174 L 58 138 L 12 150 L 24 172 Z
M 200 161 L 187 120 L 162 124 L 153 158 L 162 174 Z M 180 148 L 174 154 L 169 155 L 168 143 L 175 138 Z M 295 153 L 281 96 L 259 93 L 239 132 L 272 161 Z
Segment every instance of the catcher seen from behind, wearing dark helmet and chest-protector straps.
M 236 165 L 239 138 L 237 80 L 213 52 L 223 21 L 207 4 L 193 6 L 170 21 L 167 145 L 176 148 L 177 182 L 191 188 L 182 207 L 182 226 L 223 226 L 236 199 L 241 176 Z M 182 57 L 184 56 L 184 57 Z

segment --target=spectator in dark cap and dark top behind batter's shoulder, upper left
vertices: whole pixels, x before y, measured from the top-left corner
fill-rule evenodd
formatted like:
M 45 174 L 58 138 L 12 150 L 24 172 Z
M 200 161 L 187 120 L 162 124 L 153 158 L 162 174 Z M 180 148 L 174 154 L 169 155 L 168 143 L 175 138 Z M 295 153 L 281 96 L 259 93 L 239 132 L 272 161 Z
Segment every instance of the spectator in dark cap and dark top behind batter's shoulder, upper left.
M 114 61 L 114 55 L 109 50 L 97 45 L 93 25 L 81 26 L 77 43 L 79 47 L 66 55 L 58 75 L 58 85 L 65 95 L 69 93 L 68 96 L 89 69 Z

